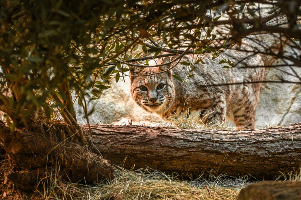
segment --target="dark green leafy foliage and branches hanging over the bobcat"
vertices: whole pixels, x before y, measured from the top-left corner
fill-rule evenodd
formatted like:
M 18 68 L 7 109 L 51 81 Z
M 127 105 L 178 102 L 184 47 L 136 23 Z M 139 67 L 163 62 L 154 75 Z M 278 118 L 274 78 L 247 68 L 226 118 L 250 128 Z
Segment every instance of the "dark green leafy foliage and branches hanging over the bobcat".
M 67 109 L 75 116 L 70 90 L 86 111 L 85 99 L 99 98 L 111 81 L 124 78 L 128 64 L 146 60 L 144 67 L 154 67 L 147 60 L 167 56 L 162 51 L 178 61 L 184 54 L 197 54 L 195 63 L 203 63 L 203 53 L 211 52 L 214 59 L 229 41 L 240 43 L 258 31 L 284 33 L 299 40 L 299 1 L 265 1 L 274 14 L 282 8 L 288 28 L 267 25 L 270 18 L 260 16 L 256 2 L 1 1 L 1 89 L 9 88 L 12 96 L 0 95 L 0 110 L 12 119 L 12 127 L 27 125 L 37 117 L 54 117 L 54 110 Z M 222 15 L 227 19 L 221 19 Z M 214 32 L 219 25 L 228 31 Z M 294 48 L 300 49 L 297 44 Z M 195 67 L 181 63 L 188 67 L 186 79 L 173 76 L 185 82 L 194 75 Z M 230 60 L 222 63 L 234 66 Z

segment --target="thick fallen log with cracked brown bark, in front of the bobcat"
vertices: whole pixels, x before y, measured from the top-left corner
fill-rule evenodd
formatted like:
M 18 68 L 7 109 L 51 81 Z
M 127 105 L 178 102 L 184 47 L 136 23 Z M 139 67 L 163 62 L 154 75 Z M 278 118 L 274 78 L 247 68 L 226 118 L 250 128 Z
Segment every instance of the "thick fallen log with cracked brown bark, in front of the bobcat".
M 87 126 L 85 126 L 88 129 Z M 197 177 L 203 172 L 273 179 L 301 164 L 301 123 L 262 130 L 91 125 L 94 153 L 126 169 Z

